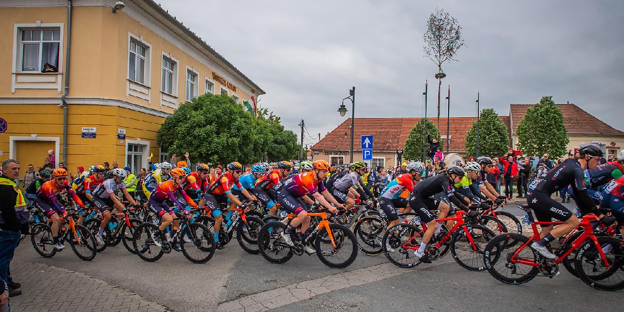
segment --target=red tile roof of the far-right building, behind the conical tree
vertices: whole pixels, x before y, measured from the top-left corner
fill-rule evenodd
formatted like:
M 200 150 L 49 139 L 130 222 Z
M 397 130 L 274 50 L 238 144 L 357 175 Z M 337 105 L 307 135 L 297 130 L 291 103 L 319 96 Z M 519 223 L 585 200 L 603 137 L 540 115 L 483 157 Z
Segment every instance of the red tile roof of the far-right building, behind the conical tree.
M 533 104 L 510 105 L 509 114 L 514 133 L 530 107 L 533 107 Z M 605 124 L 575 104 L 557 104 L 557 107 L 563 113 L 563 124 L 568 130 L 568 135 L 624 135 L 624 132 Z

